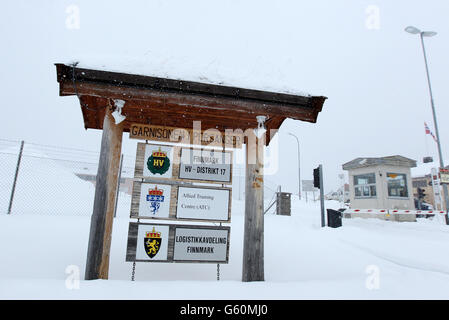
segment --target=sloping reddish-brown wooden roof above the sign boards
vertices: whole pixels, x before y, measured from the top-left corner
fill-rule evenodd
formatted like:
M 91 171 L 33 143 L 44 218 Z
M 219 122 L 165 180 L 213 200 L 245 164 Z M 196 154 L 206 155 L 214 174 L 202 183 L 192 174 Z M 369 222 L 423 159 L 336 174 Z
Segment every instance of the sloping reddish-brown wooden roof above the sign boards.
M 326 99 L 64 64 L 56 64 L 56 70 L 59 94 L 79 97 L 86 129 L 102 129 L 113 99 L 125 101 L 125 131 L 132 123 L 192 128 L 198 120 L 203 129 L 246 130 L 257 127 L 257 115 L 267 117 L 267 129 L 278 129 L 286 118 L 316 122 Z

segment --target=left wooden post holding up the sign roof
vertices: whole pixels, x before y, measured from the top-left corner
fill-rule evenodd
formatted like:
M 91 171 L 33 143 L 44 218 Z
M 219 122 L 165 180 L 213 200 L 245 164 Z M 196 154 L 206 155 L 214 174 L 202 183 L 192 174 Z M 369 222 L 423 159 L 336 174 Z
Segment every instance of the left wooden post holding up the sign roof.
M 111 111 L 107 108 L 103 121 L 85 280 L 108 279 L 122 134 L 123 122 L 116 125 Z

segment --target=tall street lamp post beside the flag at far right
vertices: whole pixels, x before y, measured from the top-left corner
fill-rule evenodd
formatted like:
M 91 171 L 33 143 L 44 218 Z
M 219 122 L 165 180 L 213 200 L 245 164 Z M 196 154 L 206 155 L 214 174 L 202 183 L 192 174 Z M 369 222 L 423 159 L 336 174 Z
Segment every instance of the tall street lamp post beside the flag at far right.
M 429 65 L 427 63 L 426 48 L 424 46 L 424 37 L 433 37 L 437 33 L 434 32 L 434 31 L 421 31 L 418 28 L 415 28 L 413 26 L 409 26 L 409 27 L 405 28 L 405 31 L 408 32 L 408 33 L 411 33 L 411 34 L 419 34 L 419 37 L 421 39 L 421 46 L 422 46 L 423 55 L 424 55 L 424 64 L 426 66 L 427 84 L 429 86 L 429 93 L 430 93 L 430 104 L 432 106 L 433 125 L 435 127 L 435 134 L 436 134 L 436 137 L 437 137 L 438 157 L 440 159 L 440 168 L 444 168 L 443 154 L 441 152 L 440 134 L 438 132 L 437 116 L 436 116 L 436 113 L 435 113 L 435 104 L 434 104 L 434 101 L 433 101 L 432 85 L 430 83 Z M 447 190 L 447 185 L 446 184 L 443 184 L 443 194 L 444 194 L 444 202 L 445 202 L 445 205 L 446 205 L 446 210 L 448 210 L 449 209 L 449 197 L 448 197 L 448 190 Z M 446 214 L 446 224 L 449 224 L 449 219 L 448 219 L 447 214 Z

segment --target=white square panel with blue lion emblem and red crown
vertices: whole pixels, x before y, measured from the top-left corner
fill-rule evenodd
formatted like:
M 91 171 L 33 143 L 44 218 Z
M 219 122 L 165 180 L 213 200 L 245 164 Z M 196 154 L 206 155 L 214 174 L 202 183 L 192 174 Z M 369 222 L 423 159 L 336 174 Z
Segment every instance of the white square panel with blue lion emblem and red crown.
M 171 186 L 142 183 L 140 187 L 139 216 L 168 218 L 170 214 Z

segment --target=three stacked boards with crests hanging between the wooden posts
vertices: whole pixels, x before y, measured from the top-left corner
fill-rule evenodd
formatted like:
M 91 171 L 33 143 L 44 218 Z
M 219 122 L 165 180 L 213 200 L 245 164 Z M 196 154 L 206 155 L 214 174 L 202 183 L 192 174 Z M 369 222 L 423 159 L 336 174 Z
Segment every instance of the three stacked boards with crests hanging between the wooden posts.
M 232 152 L 138 143 L 134 179 L 130 218 L 138 222 L 130 222 L 127 261 L 228 263 L 230 227 L 140 219 L 230 222 L 232 189 L 224 183 L 232 181 Z

